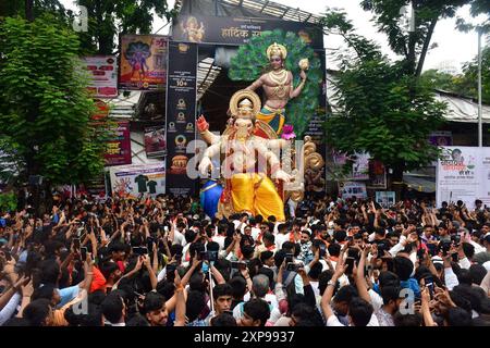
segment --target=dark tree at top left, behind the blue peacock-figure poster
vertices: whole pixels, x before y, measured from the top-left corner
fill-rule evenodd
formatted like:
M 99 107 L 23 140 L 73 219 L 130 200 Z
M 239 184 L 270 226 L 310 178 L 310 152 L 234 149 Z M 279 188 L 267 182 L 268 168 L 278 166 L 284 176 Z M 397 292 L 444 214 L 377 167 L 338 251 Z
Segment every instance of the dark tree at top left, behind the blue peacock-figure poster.
M 169 8 L 167 0 L 76 0 L 88 10 L 88 32 L 81 33 L 85 52 L 113 54 L 120 34 L 150 34 L 154 12 L 170 21 L 176 7 Z

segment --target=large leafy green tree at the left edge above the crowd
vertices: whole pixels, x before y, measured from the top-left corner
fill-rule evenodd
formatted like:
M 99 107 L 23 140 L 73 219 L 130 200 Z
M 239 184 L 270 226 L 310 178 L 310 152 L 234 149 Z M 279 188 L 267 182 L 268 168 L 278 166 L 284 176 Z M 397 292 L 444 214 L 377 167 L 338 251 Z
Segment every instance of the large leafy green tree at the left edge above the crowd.
M 77 58 L 76 34 L 52 16 L 0 23 L 0 151 L 21 183 L 84 182 L 103 169 L 105 133 L 89 120 L 94 102 Z

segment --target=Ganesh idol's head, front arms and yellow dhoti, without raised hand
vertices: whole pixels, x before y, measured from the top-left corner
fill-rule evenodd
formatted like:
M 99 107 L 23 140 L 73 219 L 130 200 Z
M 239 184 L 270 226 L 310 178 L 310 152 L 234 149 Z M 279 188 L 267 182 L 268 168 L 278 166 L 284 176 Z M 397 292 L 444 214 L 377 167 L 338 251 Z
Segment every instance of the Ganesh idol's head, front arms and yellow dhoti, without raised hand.
M 205 151 L 199 170 L 207 172 L 212 165 L 210 158 L 224 152 L 222 174 L 225 187 L 220 203 L 229 206 L 230 212 L 260 214 L 266 219 L 273 215 L 278 221 L 285 221 L 284 202 L 260 163 L 268 163 L 278 181 L 289 182 L 291 176 L 280 169 L 279 159 L 268 149 L 267 139 L 254 135 L 255 116 L 259 110 L 260 99 L 255 92 L 236 92 L 230 102 L 231 129 Z

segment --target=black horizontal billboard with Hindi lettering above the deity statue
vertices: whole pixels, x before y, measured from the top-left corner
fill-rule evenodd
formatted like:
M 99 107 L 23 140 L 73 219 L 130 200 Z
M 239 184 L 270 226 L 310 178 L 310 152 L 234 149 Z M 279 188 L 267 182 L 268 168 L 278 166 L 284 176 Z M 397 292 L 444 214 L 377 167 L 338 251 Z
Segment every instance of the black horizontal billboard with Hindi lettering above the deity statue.
M 229 16 L 207 16 L 200 14 L 182 15 L 172 27 L 172 40 L 240 46 L 247 44 L 262 32 L 281 28 L 293 32 L 314 49 L 323 50 L 323 32 L 321 26 L 282 20 L 243 18 Z

